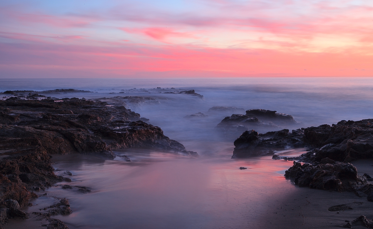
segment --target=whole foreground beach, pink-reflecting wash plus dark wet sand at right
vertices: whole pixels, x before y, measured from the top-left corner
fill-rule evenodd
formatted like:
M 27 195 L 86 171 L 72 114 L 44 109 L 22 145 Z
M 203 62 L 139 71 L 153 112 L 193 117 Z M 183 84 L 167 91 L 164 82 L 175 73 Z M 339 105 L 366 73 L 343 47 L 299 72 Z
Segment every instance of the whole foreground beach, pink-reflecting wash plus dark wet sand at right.
M 56 186 L 38 193 L 48 195 L 34 204 L 43 204 L 53 196 L 68 198 L 73 213 L 53 217 L 70 229 L 341 228 L 345 220 L 354 220 L 361 214 L 373 218 L 373 202 L 366 197 L 296 187 L 283 176 L 291 161 L 272 160 L 269 156 L 186 159 L 162 152 L 132 151 L 117 153 L 126 153 L 134 162 L 54 155 L 54 167 L 73 174 L 73 181 L 68 184 L 90 187 L 92 193 Z M 288 155 L 292 153 L 299 152 Z M 353 163 L 359 173 L 373 174 L 373 160 Z M 240 166 L 248 169 L 239 170 Z M 363 204 L 352 204 L 352 209 L 344 211 L 328 211 L 331 206 L 354 202 Z M 24 210 L 35 211 L 35 205 Z M 22 228 L 41 225 L 35 222 Z M 4 228 L 16 226 L 11 220 Z

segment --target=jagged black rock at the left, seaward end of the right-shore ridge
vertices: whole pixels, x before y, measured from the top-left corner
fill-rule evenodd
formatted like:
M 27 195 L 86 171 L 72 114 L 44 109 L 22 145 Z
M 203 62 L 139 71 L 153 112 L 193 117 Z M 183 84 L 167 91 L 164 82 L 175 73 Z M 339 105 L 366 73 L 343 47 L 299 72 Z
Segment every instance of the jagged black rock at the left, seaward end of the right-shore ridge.
M 288 147 L 303 147 L 303 130 L 279 130 L 258 134 L 255 130 L 245 131 L 234 141 L 232 158 L 273 155 L 275 150 Z

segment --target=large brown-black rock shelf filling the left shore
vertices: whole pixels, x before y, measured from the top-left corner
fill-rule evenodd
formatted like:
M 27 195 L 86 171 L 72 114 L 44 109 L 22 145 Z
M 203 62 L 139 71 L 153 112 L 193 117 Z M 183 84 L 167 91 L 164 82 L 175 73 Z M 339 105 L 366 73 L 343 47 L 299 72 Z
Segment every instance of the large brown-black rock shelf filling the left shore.
M 198 157 L 139 119 L 124 106 L 78 98 L 0 101 L 0 209 L 10 199 L 26 206 L 33 190 L 69 181 L 54 174 L 51 154 L 114 158 L 114 149 L 148 147 Z

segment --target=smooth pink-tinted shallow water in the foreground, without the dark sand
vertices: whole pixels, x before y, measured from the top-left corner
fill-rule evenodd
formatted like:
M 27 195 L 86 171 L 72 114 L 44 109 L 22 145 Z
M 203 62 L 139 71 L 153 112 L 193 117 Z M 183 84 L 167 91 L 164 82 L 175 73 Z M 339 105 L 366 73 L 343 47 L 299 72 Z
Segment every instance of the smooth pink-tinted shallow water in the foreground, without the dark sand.
M 297 191 L 283 176 L 292 162 L 270 156 L 232 160 L 231 152 L 214 159 L 125 153 L 134 162 L 53 155 L 56 169 L 72 172 L 69 185 L 92 189 L 88 194 L 61 186 L 47 190 L 70 200 L 73 213 L 57 218 L 70 229 L 247 228 L 269 210 L 271 200 Z

